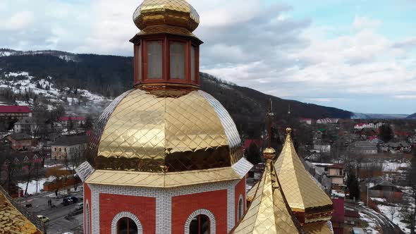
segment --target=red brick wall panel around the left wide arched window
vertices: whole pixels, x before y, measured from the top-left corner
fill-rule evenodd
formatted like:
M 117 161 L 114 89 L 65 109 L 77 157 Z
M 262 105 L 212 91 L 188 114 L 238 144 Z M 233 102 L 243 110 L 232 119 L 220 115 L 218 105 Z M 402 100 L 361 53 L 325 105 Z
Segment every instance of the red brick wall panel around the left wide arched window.
M 99 230 L 111 233 L 111 222 L 116 214 L 130 212 L 139 218 L 143 233 L 156 233 L 156 198 L 99 194 Z

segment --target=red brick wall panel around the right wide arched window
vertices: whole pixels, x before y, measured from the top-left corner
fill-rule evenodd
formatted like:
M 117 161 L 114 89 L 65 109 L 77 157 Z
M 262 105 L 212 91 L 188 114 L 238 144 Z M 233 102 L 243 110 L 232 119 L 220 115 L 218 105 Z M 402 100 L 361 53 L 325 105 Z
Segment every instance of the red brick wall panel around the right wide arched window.
M 214 214 L 216 233 L 227 233 L 226 190 L 172 197 L 172 233 L 183 233 L 186 220 L 198 209 L 207 209 Z

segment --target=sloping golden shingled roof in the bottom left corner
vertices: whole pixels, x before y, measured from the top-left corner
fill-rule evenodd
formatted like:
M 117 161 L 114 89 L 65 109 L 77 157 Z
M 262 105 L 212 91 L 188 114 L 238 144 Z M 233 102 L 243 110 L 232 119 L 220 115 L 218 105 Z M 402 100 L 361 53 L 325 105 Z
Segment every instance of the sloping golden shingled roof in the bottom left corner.
M 42 229 L 39 218 L 18 207 L 0 187 L 0 233 L 42 234 Z

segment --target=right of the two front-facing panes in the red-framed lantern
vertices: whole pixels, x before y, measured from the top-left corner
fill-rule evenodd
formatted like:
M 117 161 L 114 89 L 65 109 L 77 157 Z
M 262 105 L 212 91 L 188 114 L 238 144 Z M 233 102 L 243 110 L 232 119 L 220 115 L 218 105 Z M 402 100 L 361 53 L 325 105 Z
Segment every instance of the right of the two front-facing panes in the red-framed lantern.
M 183 42 L 170 43 L 171 79 L 185 79 L 185 47 Z

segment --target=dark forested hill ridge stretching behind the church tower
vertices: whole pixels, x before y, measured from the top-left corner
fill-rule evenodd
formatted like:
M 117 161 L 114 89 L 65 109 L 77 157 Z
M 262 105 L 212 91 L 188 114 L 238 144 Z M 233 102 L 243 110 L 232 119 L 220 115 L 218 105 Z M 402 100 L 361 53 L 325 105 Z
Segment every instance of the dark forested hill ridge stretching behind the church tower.
M 3 73 L 25 71 L 35 78 L 54 78 L 56 87 L 90 90 L 116 97 L 132 87 L 133 58 L 61 51 L 13 51 L 0 49 Z M 0 73 L 1 74 L 1 73 Z M 269 98 L 274 101 L 276 118 L 286 118 L 288 105 L 293 118 L 350 118 L 350 111 L 271 97 L 247 87 L 228 84 L 201 73 L 201 89 L 219 99 L 238 125 L 264 123 Z

